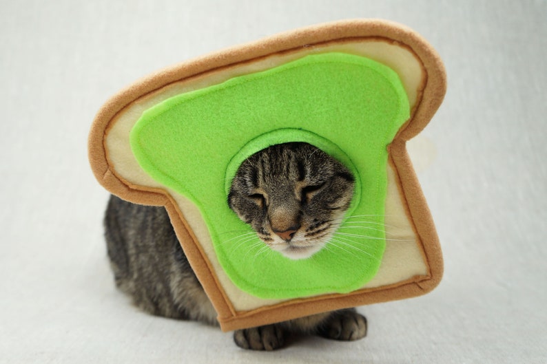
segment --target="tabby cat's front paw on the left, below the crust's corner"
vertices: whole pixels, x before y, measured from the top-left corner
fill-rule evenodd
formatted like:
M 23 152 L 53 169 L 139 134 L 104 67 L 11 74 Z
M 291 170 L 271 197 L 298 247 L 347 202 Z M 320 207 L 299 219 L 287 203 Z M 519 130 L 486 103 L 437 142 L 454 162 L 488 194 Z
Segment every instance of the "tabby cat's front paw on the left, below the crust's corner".
M 236 330 L 234 341 L 239 347 L 250 350 L 276 350 L 285 343 L 285 331 L 279 325 Z

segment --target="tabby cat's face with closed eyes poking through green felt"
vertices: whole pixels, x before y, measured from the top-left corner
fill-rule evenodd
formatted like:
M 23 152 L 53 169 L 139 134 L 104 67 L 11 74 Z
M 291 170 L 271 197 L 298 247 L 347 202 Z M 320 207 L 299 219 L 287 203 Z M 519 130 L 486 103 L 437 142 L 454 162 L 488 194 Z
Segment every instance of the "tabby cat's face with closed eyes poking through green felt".
M 247 158 L 228 196 L 230 208 L 271 249 L 291 259 L 317 253 L 353 196 L 349 169 L 303 142 L 277 144 Z

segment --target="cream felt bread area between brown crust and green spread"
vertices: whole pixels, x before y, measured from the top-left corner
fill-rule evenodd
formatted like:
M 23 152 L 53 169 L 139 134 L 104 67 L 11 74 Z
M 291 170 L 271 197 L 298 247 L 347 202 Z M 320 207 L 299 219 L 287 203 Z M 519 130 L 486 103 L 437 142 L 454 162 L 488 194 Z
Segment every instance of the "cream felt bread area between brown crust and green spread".
M 276 54 L 261 58 L 249 64 L 235 65 L 229 69 L 222 69 L 189 78 L 166 85 L 158 91 L 138 98 L 125 107 L 111 122 L 111 128 L 106 136 L 106 153 L 114 167 L 114 171 L 132 184 L 163 189 L 169 193 L 180 208 L 187 224 L 199 241 L 200 246 L 207 255 L 207 259 L 214 269 L 214 274 L 222 285 L 231 306 L 236 311 L 253 310 L 262 306 L 288 300 L 258 299 L 237 288 L 220 267 L 214 253 L 214 247 L 207 231 L 207 226 L 201 217 L 198 208 L 187 198 L 175 191 L 165 188 L 145 173 L 133 156 L 130 147 L 129 134 L 143 111 L 161 103 L 163 100 L 184 92 L 201 89 L 227 81 L 234 76 L 241 76 L 253 72 L 260 72 L 282 63 L 296 60 L 308 54 L 324 52 L 346 52 L 366 56 L 384 63 L 397 72 L 409 97 L 411 109 L 413 109 L 417 94 L 422 87 L 423 71 L 420 62 L 406 47 L 387 43 L 380 39 L 370 41 L 347 42 L 307 47 L 304 50 Z M 428 266 L 424 261 L 424 254 L 415 237 L 409 217 L 406 215 L 404 203 L 398 191 L 397 176 L 388 164 L 388 189 L 386 197 L 386 250 L 378 274 L 363 288 L 379 288 L 389 286 L 413 277 L 428 274 Z

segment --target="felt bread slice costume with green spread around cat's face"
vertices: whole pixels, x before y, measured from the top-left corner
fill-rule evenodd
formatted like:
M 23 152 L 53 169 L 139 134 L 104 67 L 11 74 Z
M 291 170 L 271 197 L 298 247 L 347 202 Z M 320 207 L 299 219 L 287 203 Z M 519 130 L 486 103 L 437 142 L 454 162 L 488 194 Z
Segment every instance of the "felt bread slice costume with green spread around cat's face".
M 406 140 L 446 90 L 435 50 L 387 21 L 327 23 L 163 69 L 112 97 L 89 139 L 111 193 L 165 206 L 220 327 L 249 328 L 423 295 L 442 255 Z M 355 175 L 337 244 L 264 253 L 227 205 L 245 158 L 309 142 Z

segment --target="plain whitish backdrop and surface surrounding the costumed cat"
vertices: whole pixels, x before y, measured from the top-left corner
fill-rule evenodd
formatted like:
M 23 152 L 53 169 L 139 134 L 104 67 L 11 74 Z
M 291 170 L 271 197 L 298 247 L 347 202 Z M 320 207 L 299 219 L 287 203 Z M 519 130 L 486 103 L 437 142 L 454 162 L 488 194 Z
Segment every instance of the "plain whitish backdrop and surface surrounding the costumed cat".
M 87 164 L 97 109 L 165 65 L 355 17 L 411 26 L 446 64 L 446 100 L 413 149 L 440 287 L 361 308 L 362 341 L 266 354 L 133 308 Z M 0 363 L 545 363 L 546 19 L 545 1 L 3 1 Z

